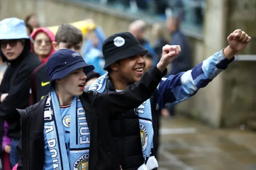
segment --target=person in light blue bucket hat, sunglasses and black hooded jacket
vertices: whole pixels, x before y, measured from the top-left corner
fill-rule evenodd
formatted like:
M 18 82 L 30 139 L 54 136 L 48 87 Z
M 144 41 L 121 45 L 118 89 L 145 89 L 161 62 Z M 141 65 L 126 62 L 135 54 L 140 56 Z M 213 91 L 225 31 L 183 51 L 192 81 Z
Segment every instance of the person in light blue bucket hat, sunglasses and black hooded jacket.
M 31 52 L 30 36 L 23 20 L 6 18 L 0 21 L 0 55 L 9 63 L 0 85 L 0 119 L 9 125 L 7 135 L 12 138 L 10 163 L 13 167 L 19 160 L 16 146 L 21 130 L 16 108 L 29 106 L 30 76 L 41 63 Z

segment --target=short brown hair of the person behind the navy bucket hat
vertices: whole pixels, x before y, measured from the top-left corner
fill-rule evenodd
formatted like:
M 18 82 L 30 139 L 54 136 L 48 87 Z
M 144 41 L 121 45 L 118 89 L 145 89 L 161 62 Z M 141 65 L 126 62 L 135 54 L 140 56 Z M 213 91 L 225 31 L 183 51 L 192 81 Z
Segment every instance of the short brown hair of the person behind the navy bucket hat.
M 76 45 L 83 41 L 82 31 L 70 24 L 62 24 L 55 35 L 55 41 L 59 44 L 61 42 Z

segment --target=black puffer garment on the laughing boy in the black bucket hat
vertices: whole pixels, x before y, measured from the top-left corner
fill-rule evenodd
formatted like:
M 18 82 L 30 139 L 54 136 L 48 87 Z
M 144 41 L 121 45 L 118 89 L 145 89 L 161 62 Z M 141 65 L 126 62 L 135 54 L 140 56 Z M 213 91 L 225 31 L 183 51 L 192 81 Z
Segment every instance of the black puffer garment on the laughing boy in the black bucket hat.
M 116 91 L 109 77 L 106 78 L 104 93 Z M 154 150 L 158 146 L 159 111 L 156 110 L 154 94 L 150 97 L 152 121 L 154 128 Z M 138 115 L 134 109 L 129 112 L 110 117 L 110 131 L 114 138 L 118 159 L 123 170 L 137 170 L 144 158 L 141 148 L 140 127 Z

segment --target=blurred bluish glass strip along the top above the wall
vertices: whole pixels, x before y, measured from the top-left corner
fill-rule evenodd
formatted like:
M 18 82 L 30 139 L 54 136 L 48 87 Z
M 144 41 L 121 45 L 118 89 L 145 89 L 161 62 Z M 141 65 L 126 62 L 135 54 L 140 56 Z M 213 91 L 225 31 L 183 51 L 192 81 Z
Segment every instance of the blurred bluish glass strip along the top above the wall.
M 162 20 L 179 17 L 182 22 L 202 26 L 206 0 L 80 0 L 104 4 L 134 13 L 149 14 Z

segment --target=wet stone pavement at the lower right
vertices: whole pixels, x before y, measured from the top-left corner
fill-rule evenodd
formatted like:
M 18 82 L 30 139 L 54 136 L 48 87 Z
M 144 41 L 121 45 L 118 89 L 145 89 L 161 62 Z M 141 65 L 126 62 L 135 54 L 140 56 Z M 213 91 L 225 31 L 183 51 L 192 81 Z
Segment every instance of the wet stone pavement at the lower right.
M 158 170 L 256 170 L 256 132 L 162 119 Z

